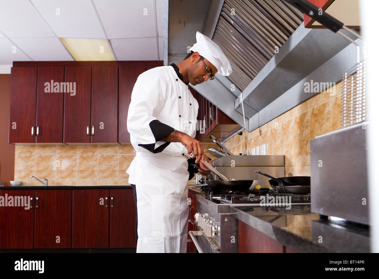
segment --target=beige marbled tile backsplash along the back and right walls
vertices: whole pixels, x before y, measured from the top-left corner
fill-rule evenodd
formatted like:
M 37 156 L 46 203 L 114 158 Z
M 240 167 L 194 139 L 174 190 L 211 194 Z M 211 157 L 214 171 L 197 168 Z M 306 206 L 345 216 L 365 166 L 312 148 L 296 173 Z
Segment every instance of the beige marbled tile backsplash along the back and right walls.
M 340 128 L 341 83 L 332 92 L 319 93 L 224 144 L 233 154 L 245 150 L 251 154 L 252 148 L 266 143 L 268 155 L 285 156 L 286 176 L 310 175 L 310 140 Z M 203 147 L 206 151 L 218 146 L 204 143 Z M 47 178 L 49 185 L 129 185 L 125 171 L 134 156 L 132 145 L 16 145 L 14 179 L 22 185 L 41 184 L 31 175 Z

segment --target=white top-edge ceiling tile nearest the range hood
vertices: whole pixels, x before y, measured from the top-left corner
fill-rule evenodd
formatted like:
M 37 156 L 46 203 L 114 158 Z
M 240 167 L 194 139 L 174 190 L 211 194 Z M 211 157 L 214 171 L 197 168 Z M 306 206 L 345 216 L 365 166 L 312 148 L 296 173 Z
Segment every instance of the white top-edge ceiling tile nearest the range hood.
M 153 0 L 93 2 L 108 39 L 157 36 Z

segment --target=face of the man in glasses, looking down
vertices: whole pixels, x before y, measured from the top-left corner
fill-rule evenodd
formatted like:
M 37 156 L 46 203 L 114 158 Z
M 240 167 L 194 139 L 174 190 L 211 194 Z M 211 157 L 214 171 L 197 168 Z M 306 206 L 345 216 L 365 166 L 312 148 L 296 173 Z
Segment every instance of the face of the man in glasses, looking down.
M 188 80 L 192 85 L 200 84 L 209 79 L 210 75 L 207 74 L 205 65 L 207 65 L 207 68 L 211 70 L 211 75 L 215 75 L 217 73 L 217 68 L 207 59 L 201 58 L 198 52 L 194 52 L 189 59 L 191 60 L 191 64 L 187 73 Z

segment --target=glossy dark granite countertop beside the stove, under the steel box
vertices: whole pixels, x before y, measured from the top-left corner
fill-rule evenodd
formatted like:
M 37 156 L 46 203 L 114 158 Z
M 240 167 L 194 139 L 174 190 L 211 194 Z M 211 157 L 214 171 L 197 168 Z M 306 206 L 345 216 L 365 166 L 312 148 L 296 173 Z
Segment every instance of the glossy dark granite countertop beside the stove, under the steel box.
M 198 202 L 209 206 L 225 205 L 202 194 L 200 188 L 190 188 L 189 191 L 197 195 Z M 290 209 L 259 204 L 230 204 L 229 212 L 297 252 L 370 252 L 368 226 L 320 219 L 319 214 L 312 213 L 310 204 L 292 204 Z

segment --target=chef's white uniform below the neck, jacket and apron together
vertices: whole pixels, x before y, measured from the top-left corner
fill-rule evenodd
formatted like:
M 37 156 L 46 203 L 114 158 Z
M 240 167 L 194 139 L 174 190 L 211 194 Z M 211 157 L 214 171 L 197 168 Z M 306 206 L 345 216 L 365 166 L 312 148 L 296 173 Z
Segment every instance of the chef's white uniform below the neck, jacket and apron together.
M 156 142 L 155 136 L 157 127 L 158 131 L 167 128 L 158 123 L 154 134 L 149 126 L 154 120 L 194 137 L 198 108 L 172 66 L 144 72 L 133 88 L 127 126 L 136 156 L 127 173 L 129 183 L 136 185 L 137 252 L 186 252 L 187 150 L 181 143 L 171 142 L 163 151 L 153 153 L 141 144 L 154 144 L 155 149 L 165 144 Z

